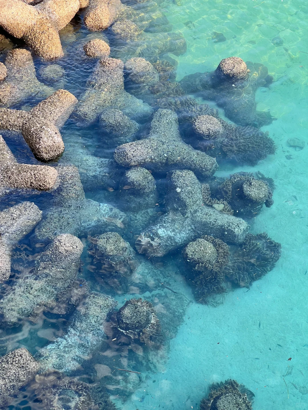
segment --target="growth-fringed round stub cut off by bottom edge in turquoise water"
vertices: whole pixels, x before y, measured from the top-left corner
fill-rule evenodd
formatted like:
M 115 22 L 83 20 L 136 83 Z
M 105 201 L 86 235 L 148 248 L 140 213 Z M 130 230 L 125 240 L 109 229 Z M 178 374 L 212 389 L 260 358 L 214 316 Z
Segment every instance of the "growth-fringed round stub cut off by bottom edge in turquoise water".
M 209 395 L 201 400 L 200 410 L 252 410 L 254 394 L 236 380 L 213 383 Z

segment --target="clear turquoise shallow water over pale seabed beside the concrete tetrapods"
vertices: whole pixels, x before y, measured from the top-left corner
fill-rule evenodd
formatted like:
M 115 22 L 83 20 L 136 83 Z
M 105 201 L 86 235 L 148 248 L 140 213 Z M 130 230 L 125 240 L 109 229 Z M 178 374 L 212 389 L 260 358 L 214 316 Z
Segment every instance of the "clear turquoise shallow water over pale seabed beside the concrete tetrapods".
M 199 408 L 200 400 L 211 383 L 234 378 L 255 394 L 254 409 L 262 410 L 269 406 L 281 410 L 307 409 L 308 55 L 304 52 L 308 52 L 308 8 L 303 2 L 285 0 L 182 0 L 182 5 L 168 3 L 162 7 L 174 30 L 182 32 L 187 42 L 187 52 L 175 57 L 179 62 L 177 79 L 196 71 L 211 71 L 221 59 L 232 55 L 244 61 L 261 62 L 274 77 L 271 86 L 258 89 L 256 99 L 258 110 L 270 109 L 277 118 L 262 128 L 268 130 L 275 140 L 276 154 L 255 167 L 221 166 L 216 175 L 260 170 L 274 178 L 274 205 L 264 208 L 252 221 L 251 232 L 267 231 L 270 237 L 282 244 L 282 255 L 276 267 L 254 282 L 248 292 L 246 288 L 235 289 L 218 307 L 195 303 L 184 278 L 172 260 L 166 258 L 163 274 L 170 276 L 168 285 L 193 302 L 187 307 L 177 336 L 170 340 L 168 358 L 162 360 L 159 371 L 145 369 L 141 384 L 131 396 L 127 394 L 125 403 L 120 402 L 116 394 L 112 398 L 119 408 L 127 410 Z M 214 32 L 223 33 L 226 40 L 215 43 L 212 39 L 216 35 Z M 78 36 L 82 39 L 85 34 L 85 30 L 80 28 L 75 34 L 63 36 L 62 41 L 68 44 Z M 272 39 L 278 36 L 283 41 L 281 46 L 272 43 Z M 41 64 L 39 59 L 35 63 L 37 67 Z M 64 88 L 79 97 L 92 67 L 85 65 L 83 71 L 78 65 L 69 68 L 65 60 L 63 65 L 68 79 Z M 67 128 L 62 130 L 64 142 L 69 132 Z M 95 130 L 90 129 L 87 134 L 83 129 L 75 132 L 94 149 Z M 296 151 L 287 146 L 287 139 L 292 137 L 305 141 L 303 150 Z M 106 201 L 117 203 L 113 193 L 108 191 L 90 192 L 87 196 L 101 202 L 106 198 Z M 40 199 L 33 200 L 42 207 L 46 206 Z M 84 254 L 85 263 L 86 257 Z M 95 289 L 91 272 L 84 269 L 83 277 Z M 134 297 L 136 294 L 118 296 L 119 305 L 126 296 Z M 6 331 L 2 337 L 2 353 L 21 346 L 35 353 L 36 347 L 44 346 L 63 331 L 57 321 L 52 323 L 53 318 L 49 317 L 44 324 Z M 53 327 L 55 330 L 50 332 Z M 44 332 L 44 328 L 48 332 Z M 292 360 L 288 361 L 290 357 Z M 97 357 L 93 358 L 92 364 L 95 360 Z M 129 361 L 126 365 L 129 366 Z M 90 374 L 91 370 L 87 371 Z

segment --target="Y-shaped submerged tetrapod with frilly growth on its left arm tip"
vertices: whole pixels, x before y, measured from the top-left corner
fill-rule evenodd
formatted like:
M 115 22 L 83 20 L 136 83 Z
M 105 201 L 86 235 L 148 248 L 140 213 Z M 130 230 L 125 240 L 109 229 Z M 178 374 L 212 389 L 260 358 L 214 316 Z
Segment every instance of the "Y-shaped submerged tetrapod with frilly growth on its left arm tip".
M 149 226 L 136 240 L 139 253 L 163 256 L 202 235 L 211 235 L 228 243 L 240 244 L 248 232 L 241 218 L 223 214 L 202 203 L 201 184 L 188 170 L 168 174 L 169 212 Z

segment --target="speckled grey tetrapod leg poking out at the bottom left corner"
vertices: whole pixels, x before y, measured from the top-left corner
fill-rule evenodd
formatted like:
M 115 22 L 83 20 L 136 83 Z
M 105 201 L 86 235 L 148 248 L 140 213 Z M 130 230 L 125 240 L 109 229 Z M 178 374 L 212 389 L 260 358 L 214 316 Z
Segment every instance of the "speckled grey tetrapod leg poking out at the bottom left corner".
M 0 358 L 0 408 L 6 408 L 18 390 L 39 371 L 39 363 L 21 347 Z

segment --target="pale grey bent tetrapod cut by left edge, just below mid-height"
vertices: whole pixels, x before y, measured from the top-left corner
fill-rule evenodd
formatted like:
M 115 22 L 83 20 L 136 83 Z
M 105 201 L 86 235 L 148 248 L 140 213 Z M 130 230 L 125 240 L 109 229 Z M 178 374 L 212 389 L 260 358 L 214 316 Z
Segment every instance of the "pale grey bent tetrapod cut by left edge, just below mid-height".
M 42 212 L 32 202 L 23 202 L 0 212 L 0 283 L 11 273 L 11 250 L 41 220 Z

